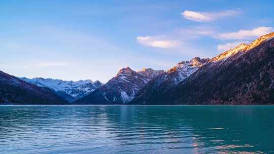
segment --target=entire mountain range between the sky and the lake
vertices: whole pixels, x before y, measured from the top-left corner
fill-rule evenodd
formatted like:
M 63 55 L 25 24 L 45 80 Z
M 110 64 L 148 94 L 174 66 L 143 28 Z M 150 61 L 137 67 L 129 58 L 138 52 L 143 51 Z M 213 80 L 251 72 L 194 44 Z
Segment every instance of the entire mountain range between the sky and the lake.
M 272 104 L 274 33 L 211 59 L 195 57 L 168 70 L 122 68 L 110 81 L 17 78 L 0 72 L 2 103 Z

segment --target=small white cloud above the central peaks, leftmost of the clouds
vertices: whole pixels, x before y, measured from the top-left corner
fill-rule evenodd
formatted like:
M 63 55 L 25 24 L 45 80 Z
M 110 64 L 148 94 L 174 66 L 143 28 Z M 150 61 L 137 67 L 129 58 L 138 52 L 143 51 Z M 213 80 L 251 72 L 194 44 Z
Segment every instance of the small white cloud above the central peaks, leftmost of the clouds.
M 175 48 L 180 46 L 180 41 L 166 40 L 156 36 L 139 36 L 137 37 L 137 42 L 141 45 L 155 48 Z

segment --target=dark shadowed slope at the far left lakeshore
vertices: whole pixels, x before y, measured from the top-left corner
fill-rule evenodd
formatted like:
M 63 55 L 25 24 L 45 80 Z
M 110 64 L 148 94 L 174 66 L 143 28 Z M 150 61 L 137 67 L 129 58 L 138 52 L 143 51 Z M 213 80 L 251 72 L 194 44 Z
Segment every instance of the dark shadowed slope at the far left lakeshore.
M 29 84 L 0 71 L 0 104 L 66 104 L 48 88 Z

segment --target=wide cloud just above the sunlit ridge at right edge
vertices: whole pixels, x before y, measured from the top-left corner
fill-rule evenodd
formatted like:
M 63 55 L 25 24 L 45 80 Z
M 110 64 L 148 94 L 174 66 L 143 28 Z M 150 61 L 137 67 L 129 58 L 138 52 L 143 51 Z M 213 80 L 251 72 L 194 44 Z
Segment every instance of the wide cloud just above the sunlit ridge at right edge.
M 251 40 L 273 31 L 273 27 L 258 27 L 252 30 L 239 30 L 237 32 L 219 33 L 215 37 L 221 40 Z

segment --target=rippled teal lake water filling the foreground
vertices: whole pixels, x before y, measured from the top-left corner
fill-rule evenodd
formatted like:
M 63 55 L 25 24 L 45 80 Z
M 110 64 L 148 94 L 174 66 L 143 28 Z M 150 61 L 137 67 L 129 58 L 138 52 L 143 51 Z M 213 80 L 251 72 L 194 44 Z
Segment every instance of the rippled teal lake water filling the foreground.
M 0 106 L 0 153 L 274 153 L 274 106 Z

